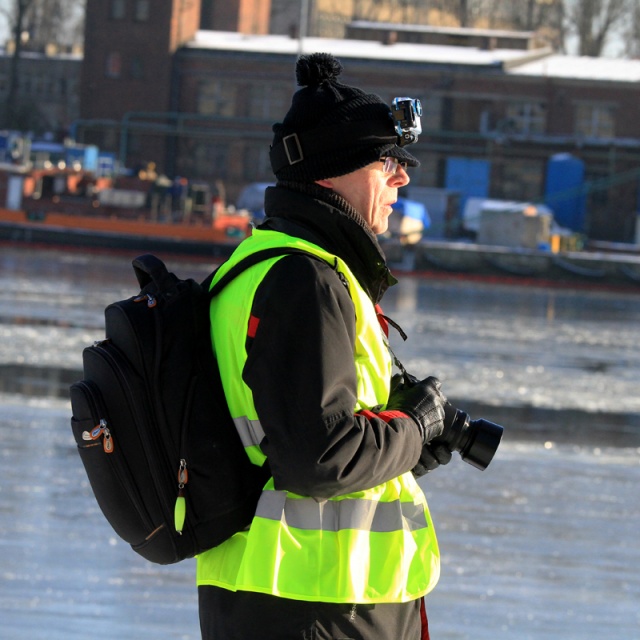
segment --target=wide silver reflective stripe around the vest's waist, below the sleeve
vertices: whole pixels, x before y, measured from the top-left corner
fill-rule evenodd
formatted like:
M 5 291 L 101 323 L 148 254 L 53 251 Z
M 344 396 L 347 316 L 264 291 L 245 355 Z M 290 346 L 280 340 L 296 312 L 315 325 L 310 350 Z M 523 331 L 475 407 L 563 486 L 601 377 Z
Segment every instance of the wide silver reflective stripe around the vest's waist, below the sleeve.
M 256 516 L 282 520 L 289 527 L 313 531 L 359 529 L 376 533 L 427 528 L 424 506 L 412 502 L 366 499 L 322 500 L 291 498 L 285 491 L 263 491 Z

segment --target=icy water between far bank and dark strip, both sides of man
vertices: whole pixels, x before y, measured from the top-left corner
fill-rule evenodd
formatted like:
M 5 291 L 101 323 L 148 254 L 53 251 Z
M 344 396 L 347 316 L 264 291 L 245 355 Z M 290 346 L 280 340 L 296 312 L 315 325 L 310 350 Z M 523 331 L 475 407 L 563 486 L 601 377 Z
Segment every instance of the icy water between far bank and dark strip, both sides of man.
M 79 371 L 106 302 L 135 290 L 129 257 L 21 254 L 0 261 L 0 366 Z M 206 263 L 174 263 L 204 278 Z M 638 413 L 640 295 L 404 277 L 384 310 L 394 351 L 447 395 L 486 405 Z

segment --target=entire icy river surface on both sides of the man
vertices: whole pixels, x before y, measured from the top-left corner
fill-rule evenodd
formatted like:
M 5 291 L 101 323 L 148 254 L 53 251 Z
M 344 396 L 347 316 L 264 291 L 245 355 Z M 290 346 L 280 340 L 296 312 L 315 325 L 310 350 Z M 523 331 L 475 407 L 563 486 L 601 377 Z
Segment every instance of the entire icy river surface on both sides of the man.
M 113 534 L 69 428 L 66 386 L 135 289 L 128 263 L 0 253 L 2 638 L 199 637 L 193 562 L 152 565 Z M 405 366 L 507 428 L 485 471 L 456 456 L 421 480 L 434 640 L 640 637 L 640 296 L 403 278 L 384 302 Z

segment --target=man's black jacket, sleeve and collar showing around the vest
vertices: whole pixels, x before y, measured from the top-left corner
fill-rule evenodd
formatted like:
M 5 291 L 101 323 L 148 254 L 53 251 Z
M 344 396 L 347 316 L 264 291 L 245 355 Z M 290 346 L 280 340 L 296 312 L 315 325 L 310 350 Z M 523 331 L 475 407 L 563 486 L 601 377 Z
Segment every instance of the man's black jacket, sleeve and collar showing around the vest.
M 316 185 L 267 190 L 261 228 L 311 241 L 342 258 L 373 303 L 395 279 L 375 235 L 342 198 Z M 276 488 L 328 498 L 412 469 L 421 435 L 411 418 L 353 414 L 355 313 L 330 265 L 279 260 L 258 287 L 243 379 L 251 388 L 261 443 Z M 254 324 L 255 326 L 255 324 Z

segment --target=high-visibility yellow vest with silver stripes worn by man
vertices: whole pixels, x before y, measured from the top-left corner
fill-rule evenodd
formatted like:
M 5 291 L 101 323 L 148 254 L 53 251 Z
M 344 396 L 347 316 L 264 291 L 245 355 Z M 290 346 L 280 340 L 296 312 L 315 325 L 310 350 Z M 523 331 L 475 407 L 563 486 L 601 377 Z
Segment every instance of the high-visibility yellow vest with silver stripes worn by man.
M 275 246 L 302 248 L 344 274 L 356 317 L 358 389 L 353 410 L 384 406 L 392 366 L 389 350 L 373 303 L 340 258 L 280 232 L 254 230 L 214 282 L 245 255 Z M 229 409 L 256 464 L 264 461 L 259 446 L 264 433 L 251 390 L 242 381 L 245 340 L 256 289 L 280 259 L 243 272 L 211 308 L 212 339 Z M 320 602 L 407 602 L 431 591 L 439 573 L 440 553 L 431 516 L 411 472 L 329 500 L 277 491 L 271 479 L 249 530 L 197 559 L 198 585 Z

